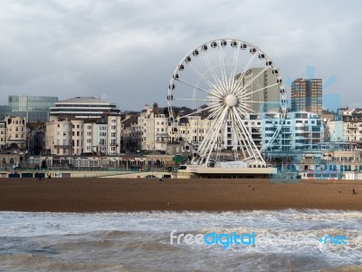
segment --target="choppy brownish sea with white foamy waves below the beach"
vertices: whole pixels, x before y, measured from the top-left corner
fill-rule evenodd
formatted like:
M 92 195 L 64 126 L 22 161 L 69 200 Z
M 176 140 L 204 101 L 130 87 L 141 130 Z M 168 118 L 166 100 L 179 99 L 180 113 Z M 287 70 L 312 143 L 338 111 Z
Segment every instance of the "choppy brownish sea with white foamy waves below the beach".
M 341 269 L 362 271 L 362 212 L 0 212 L 0 271 Z

